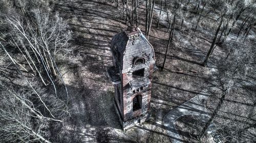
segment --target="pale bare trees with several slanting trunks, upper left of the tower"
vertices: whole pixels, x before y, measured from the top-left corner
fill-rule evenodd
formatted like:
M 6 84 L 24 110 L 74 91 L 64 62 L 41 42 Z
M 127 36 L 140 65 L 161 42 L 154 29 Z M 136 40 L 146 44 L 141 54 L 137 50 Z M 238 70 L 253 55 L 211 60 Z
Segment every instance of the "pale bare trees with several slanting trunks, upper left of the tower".
M 33 71 L 33 75 L 37 74 L 42 83 L 47 85 L 47 80 L 50 80 L 55 94 L 54 77 L 58 75 L 62 83 L 62 76 L 56 64 L 56 56 L 59 52 L 67 53 L 67 42 L 70 39 L 70 32 L 66 32 L 67 24 L 55 15 L 55 19 L 51 19 L 46 12 L 34 10 L 32 16 L 35 20 L 31 22 L 24 20 L 21 16 L 9 16 L 6 18 L 6 23 L 11 26 L 9 45 L 12 45 L 23 55 L 29 65 L 29 69 L 22 67 L 26 71 Z M 7 51 L 6 52 L 10 52 Z M 14 55 L 9 53 L 15 63 L 19 63 Z M 20 65 L 20 64 L 18 64 Z M 43 74 L 48 76 L 45 78 Z M 68 91 L 66 88 L 68 97 Z

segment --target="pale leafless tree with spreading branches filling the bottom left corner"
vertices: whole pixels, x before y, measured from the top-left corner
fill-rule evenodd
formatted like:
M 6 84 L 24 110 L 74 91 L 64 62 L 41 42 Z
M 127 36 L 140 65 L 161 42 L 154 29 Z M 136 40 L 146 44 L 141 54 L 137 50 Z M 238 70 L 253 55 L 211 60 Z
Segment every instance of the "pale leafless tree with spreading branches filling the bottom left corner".
M 42 95 L 37 84 L 25 80 L 15 90 L 0 82 L 1 142 L 50 142 L 46 131 L 49 122 L 58 124 L 67 117 L 65 103 L 52 95 Z

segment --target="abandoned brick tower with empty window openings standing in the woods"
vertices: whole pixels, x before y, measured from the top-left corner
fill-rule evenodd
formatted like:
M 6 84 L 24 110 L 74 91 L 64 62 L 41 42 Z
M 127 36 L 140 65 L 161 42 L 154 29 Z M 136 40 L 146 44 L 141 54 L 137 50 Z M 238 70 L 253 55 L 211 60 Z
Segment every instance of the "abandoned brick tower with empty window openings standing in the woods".
M 139 28 L 115 35 L 111 51 L 113 67 L 108 73 L 115 87 L 115 109 L 123 129 L 127 129 L 151 116 L 155 53 Z

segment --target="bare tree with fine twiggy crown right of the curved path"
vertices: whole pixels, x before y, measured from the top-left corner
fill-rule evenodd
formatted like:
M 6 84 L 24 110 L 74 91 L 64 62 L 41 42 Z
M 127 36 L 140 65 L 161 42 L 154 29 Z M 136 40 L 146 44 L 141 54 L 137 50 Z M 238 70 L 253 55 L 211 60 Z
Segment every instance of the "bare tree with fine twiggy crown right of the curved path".
M 256 110 L 255 110 L 255 101 L 256 96 L 254 93 L 255 89 L 255 78 L 250 78 L 254 76 L 253 71 L 255 71 L 255 48 L 253 45 L 255 40 L 250 42 L 243 42 L 242 39 L 229 40 L 224 43 L 224 46 L 229 50 L 229 53 L 226 56 L 223 56 L 219 60 L 215 61 L 215 66 L 218 68 L 217 72 L 214 72 L 212 75 L 210 85 L 208 90 L 212 93 L 212 96 L 219 98 L 218 104 L 214 108 L 212 116 L 208 123 L 206 124 L 204 130 L 201 132 L 201 135 L 204 134 L 204 131 L 209 127 L 211 122 L 218 119 L 219 123 L 214 129 L 217 134 L 221 136 L 222 140 L 229 140 L 230 142 L 246 142 L 246 140 L 253 140 L 255 136 L 244 136 L 242 134 L 251 135 L 250 129 L 254 128 Z M 244 91 L 245 92 L 236 92 Z M 251 100 L 252 104 L 242 103 L 240 106 L 238 104 L 228 104 L 226 101 L 226 96 L 244 96 L 247 100 Z M 230 98 L 230 97 L 229 97 Z M 234 97 L 233 97 L 234 98 Z M 232 107 L 233 105 L 233 107 Z M 245 106 L 246 105 L 246 106 Z M 236 114 L 231 113 L 234 111 L 234 108 L 240 108 L 240 111 L 236 114 L 243 113 L 245 116 L 242 118 L 242 122 L 236 120 Z M 244 108 L 244 109 L 241 109 Z M 221 111 L 220 111 L 221 109 Z M 225 116 L 221 116 L 222 113 L 225 113 Z M 229 114 L 230 112 L 230 114 Z M 218 115 L 218 116 L 217 116 Z M 226 122 L 226 115 L 234 115 L 229 117 L 229 120 L 232 122 Z M 220 122 L 221 121 L 221 122 Z M 227 123 L 227 124 L 226 124 Z

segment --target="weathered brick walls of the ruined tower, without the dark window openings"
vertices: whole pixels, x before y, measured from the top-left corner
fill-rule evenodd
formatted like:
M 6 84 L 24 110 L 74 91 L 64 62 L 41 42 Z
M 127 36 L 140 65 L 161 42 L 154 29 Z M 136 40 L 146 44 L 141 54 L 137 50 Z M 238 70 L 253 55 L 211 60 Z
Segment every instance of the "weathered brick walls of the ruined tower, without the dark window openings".
M 118 102 L 118 97 L 115 94 L 116 103 L 118 103 L 115 107 L 116 109 L 118 108 L 121 113 L 123 127 L 127 127 L 131 126 L 133 122 L 136 122 L 136 124 L 139 121 L 143 122 L 150 116 L 149 111 L 152 88 L 152 74 L 155 60 L 153 47 L 150 43 L 148 43 L 143 34 L 139 35 L 138 37 L 130 37 L 130 39 L 124 38 L 123 36 L 126 35 L 119 34 L 119 37 L 114 38 L 114 40 L 112 40 L 112 47 L 115 45 L 115 47 L 118 47 L 117 51 L 120 52 L 118 53 L 118 56 L 115 55 L 120 58 L 120 61 L 113 61 L 113 63 L 119 63 L 118 65 L 114 65 L 119 66 L 121 75 L 121 102 Z M 124 47 L 124 45 L 126 47 Z M 114 48 L 112 48 L 112 50 L 113 49 Z M 125 50 L 123 51 L 122 49 Z M 137 58 L 143 58 L 144 64 L 134 65 L 134 62 Z M 142 68 L 144 68 L 144 77 L 140 78 L 143 78 L 143 80 L 138 80 L 138 78 L 132 76 L 134 71 L 140 70 Z M 137 88 L 139 89 L 138 92 L 133 92 L 134 89 Z M 115 87 L 115 92 L 117 89 L 118 88 Z M 133 111 L 133 98 L 138 94 L 142 96 L 140 104 L 141 109 Z

